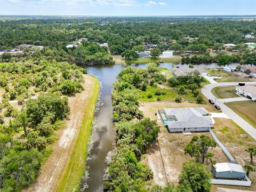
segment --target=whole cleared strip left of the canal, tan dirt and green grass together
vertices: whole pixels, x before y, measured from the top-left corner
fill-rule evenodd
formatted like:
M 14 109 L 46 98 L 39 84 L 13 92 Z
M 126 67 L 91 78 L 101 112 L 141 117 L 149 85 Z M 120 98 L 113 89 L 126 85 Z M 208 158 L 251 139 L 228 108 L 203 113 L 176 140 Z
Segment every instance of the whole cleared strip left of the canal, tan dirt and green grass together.
M 53 153 L 42 166 L 33 185 L 24 191 L 74 191 L 83 174 L 86 145 L 91 133 L 95 101 L 99 83 L 90 75 L 84 75 L 84 91 L 69 97 L 70 115 L 67 128 L 57 133 L 58 142 Z

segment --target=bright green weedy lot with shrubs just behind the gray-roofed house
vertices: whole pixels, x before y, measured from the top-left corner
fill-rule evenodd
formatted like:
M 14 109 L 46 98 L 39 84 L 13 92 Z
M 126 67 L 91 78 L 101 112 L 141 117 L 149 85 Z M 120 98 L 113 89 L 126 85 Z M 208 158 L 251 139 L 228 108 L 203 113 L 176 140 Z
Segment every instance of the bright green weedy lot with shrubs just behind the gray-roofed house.
M 161 95 L 156 95 L 155 92 L 156 90 L 163 90 L 165 91 L 166 94 L 161 94 Z M 159 87 L 154 87 L 154 86 L 148 86 L 146 91 L 141 91 L 140 92 L 140 101 L 148 101 L 148 102 L 153 102 L 157 101 L 157 98 L 159 100 L 168 100 L 174 102 L 174 100 L 178 97 L 178 95 L 181 96 L 182 102 L 187 101 L 191 103 L 196 102 L 196 98 L 194 97 L 193 93 L 190 90 L 186 90 L 185 94 L 178 94 L 178 89 L 175 87 L 172 87 L 171 89 L 163 89 Z M 148 95 L 152 94 L 152 98 L 148 98 Z

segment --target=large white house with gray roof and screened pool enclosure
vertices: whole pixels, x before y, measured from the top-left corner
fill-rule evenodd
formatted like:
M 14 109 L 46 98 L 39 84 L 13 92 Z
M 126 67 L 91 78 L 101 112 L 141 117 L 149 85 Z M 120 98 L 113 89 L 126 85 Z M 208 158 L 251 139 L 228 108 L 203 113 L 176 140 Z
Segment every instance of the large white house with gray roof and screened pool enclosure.
M 203 107 L 159 109 L 158 114 L 169 132 L 209 131 L 213 127 L 209 113 Z

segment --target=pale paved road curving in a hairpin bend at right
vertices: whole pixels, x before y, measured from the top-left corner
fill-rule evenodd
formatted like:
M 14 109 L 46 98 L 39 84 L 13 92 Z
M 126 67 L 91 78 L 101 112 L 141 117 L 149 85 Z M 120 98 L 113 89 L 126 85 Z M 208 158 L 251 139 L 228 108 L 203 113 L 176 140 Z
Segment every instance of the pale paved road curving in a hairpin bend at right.
M 256 82 L 246 82 L 246 85 L 256 85 Z M 215 101 L 216 97 L 212 94 L 212 89 L 218 86 L 230 86 L 238 85 L 238 82 L 225 82 L 225 83 L 213 83 L 205 85 L 202 87 L 202 93 L 207 99 L 213 99 Z M 246 131 L 251 137 L 256 140 L 256 129 L 247 123 L 242 117 L 237 115 L 233 110 L 227 107 L 221 99 L 216 99 L 215 102 L 220 106 L 223 113 L 225 113 L 230 119 L 232 119 L 237 125 L 241 126 L 244 131 Z

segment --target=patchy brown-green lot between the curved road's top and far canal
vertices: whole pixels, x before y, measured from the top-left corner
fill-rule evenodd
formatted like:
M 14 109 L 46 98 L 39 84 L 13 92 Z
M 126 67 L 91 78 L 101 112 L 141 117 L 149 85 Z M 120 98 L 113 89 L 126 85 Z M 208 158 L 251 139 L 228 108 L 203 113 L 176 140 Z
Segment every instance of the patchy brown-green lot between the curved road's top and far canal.
M 223 69 L 206 69 L 211 76 L 222 77 L 217 79 L 217 82 L 245 82 L 245 81 L 255 81 L 255 78 L 249 78 L 246 74 L 232 71 L 227 72 Z

